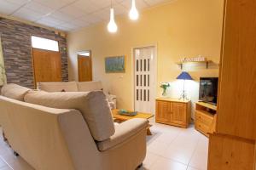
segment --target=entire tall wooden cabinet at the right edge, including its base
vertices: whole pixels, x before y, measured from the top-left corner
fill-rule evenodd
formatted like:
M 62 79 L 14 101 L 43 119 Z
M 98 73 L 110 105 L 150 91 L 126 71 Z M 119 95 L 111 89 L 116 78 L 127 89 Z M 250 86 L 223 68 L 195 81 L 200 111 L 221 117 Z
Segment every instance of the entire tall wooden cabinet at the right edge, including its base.
M 253 170 L 256 168 L 256 3 L 255 0 L 224 2 L 217 133 L 210 134 L 208 170 Z

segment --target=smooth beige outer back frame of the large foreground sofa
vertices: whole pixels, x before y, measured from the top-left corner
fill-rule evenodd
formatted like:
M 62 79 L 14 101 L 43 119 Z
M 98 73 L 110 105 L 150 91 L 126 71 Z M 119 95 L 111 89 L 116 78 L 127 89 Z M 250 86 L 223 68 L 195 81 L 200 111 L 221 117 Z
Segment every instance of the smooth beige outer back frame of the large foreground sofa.
M 3 96 L 0 111 L 0 125 L 12 149 L 35 169 L 82 170 L 82 161 L 96 159 L 96 144 L 79 111 L 47 108 Z M 80 153 L 81 147 L 88 153 Z

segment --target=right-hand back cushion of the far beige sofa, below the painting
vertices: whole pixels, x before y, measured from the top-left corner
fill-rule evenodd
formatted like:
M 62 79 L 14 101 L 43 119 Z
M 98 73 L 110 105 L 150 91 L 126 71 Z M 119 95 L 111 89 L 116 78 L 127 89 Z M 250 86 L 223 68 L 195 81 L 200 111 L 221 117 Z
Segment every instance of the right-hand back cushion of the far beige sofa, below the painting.
M 92 82 L 77 82 L 79 92 L 90 92 L 96 90 L 102 90 L 102 82 L 92 81 Z

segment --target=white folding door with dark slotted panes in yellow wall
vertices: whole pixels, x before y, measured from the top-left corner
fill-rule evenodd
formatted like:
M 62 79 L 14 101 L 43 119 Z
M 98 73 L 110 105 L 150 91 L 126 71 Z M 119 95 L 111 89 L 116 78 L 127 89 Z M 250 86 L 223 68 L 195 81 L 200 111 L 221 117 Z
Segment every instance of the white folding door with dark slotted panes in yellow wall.
M 135 48 L 135 111 L 154 114 L 155 47 Z

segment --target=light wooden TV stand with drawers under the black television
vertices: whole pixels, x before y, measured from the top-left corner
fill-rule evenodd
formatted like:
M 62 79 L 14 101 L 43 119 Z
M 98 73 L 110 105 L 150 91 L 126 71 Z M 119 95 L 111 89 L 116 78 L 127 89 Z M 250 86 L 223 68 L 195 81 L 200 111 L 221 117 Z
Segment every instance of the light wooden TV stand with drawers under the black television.
M 205 102 L 195 103 L 195 129 L 209 137 L 216 129 L 217 106 Z

